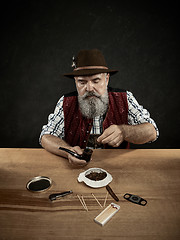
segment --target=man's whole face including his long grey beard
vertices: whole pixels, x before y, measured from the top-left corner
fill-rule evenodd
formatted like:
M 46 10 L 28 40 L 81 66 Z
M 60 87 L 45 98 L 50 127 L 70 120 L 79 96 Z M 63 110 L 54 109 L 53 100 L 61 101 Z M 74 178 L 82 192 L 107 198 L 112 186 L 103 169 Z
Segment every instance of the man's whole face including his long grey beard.
M 81 113 L 87 118 L 102 116 L 108 109 L 109 74 L 75 77 Z

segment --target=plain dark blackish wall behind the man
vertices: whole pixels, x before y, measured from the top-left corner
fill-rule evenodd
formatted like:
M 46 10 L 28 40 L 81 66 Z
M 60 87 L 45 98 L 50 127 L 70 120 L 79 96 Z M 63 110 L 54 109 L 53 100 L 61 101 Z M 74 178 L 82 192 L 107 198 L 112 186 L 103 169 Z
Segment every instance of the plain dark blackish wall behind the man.
M 40 147 L 39 134 L 75 89 L 71 58 L 98 48 L 110 86 L 132 91 L 160 137 L 133 148 L 179 148 L 179 25 L 176 2 L 14 0 L 1 4 L 0 147 Z

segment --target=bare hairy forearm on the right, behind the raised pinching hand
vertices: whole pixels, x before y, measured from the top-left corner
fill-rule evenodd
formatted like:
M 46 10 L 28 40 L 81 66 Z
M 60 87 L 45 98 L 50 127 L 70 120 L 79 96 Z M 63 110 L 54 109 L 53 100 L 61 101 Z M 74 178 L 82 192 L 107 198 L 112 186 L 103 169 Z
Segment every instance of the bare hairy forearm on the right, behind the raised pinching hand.
M 151 123 L 120 125 L 124 140 L 134 144 L 144 144 L 156 139 L 156 130 Z

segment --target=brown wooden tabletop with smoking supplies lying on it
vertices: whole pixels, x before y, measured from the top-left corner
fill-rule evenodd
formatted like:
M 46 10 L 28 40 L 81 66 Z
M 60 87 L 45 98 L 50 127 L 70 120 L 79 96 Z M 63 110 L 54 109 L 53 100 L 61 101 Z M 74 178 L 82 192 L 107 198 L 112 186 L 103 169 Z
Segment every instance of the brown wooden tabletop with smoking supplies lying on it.
M 105 225 L 94 218 L 102 208 L 106 189 L 78 183 L 79 173 L 100 167 L 113 177 L 111 188 L 120 210 Z M 32 193 L 26 183 L 48 176 L 52 187 Z M 180 150 L 94 150 L 85 168 L 73 168 L 66 159 L 44 149 L 0 149 L 0 239 L 180 239 Z M 54 192 L 73 194 L 52 203 Z M 132 193 L 147 200 L 146 206 L 123 198 Z M 89 211 L 80 204 L 83 195 Z M 107 204 L 115 202 L 108 195 Z

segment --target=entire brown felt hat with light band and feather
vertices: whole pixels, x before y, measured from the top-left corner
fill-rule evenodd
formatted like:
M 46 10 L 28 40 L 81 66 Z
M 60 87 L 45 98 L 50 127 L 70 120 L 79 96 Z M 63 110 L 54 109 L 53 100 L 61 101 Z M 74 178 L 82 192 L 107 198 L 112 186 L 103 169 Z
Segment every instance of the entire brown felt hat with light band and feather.
M 66 73 L 64 76 L 74 78 L 75 76 L 94 75 L 98 73 L 110 73 L 113 75 L 118 70 L 112 70 L 107 67 L 105 58 L 100 50 L 81 50 L 77 57 L 73 58 L 73 72 Z

